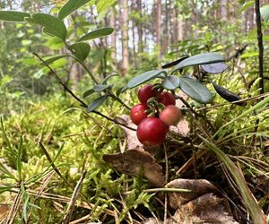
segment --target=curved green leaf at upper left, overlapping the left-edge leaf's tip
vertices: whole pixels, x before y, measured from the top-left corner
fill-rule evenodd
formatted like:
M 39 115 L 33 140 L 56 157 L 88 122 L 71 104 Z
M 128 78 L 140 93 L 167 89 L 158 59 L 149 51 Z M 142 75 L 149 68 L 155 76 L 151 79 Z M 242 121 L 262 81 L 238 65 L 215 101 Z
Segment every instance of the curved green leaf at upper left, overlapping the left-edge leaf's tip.
M 26 22 L 30 24 L 37 24 L 43 27 L 43 32 L 49 36 L 57 37 L 59 39 L 65 39 L 67 30 L 65 23 L 57 17 L 45 14 L 45 13 L 34 13 L 31 17 L 25 18 Z

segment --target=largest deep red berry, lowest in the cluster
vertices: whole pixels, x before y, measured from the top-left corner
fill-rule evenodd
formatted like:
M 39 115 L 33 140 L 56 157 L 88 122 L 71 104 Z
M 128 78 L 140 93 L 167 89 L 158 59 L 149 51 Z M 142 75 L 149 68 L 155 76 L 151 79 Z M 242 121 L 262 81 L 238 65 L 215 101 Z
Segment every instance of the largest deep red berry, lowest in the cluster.
M 165 141 L 167 127 L 158 117 L 147 117 L 138 125 L 136 136 L 144 146 L 157 146 Z

